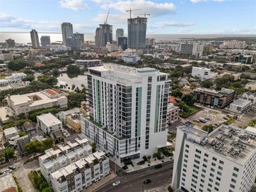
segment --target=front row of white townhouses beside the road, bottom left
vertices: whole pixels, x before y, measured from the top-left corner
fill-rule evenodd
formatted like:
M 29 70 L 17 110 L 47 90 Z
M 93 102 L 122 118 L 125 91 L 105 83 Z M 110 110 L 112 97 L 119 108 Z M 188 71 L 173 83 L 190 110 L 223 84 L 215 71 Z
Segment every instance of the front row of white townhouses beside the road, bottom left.
M 109 159 L 95 152 L 51 173 L 54 192 L 79 192 L 109 174 Z

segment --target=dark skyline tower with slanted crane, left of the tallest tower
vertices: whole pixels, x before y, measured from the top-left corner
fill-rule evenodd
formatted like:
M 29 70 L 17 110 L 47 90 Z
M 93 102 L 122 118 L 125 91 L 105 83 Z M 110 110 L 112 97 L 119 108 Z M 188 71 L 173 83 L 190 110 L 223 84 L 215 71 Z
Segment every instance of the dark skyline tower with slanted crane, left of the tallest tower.
M 100 27 L 95 31 L 96 47 L 104 47 L 107 43 L 113 42 L 113 26 L 109 24 L 100 24 Z

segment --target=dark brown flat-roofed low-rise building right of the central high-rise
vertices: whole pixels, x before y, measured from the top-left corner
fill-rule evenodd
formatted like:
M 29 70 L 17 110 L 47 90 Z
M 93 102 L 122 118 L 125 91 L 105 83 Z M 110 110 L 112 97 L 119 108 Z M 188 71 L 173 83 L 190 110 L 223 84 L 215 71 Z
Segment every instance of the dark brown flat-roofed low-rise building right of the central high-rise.
M 196 102 L 221 109 L 228 106 L 233 101 L 235 95 L 234 90 L 227 88 L 221 88 L 220 91 L 208 88 L 196 88 L 194 93 Z

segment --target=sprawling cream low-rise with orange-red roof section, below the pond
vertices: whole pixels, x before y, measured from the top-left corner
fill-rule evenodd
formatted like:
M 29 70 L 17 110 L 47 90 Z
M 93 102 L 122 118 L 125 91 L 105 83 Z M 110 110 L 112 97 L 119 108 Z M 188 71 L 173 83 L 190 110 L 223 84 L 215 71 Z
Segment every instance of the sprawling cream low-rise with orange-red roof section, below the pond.
M 24 95 L 8 95 L 7 97 L 8 106 L 15 111 L 16 115 L 55 106 L 59 106 L 60 109 L 65 109 L 67 108 L 67 102 L 66 96 L 51 89 Z

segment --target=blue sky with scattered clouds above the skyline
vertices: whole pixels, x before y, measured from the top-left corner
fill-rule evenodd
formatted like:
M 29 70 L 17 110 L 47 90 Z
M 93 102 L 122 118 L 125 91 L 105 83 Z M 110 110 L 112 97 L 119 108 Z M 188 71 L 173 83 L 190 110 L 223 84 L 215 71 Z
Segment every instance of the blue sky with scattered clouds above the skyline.
M 149 34 L 256 34 L 255 0 L 0 0 L 0 31 L 60 32 L 71 22 L 74 32 L 94 33 L 109 11 L 115 33 L 127 30 L 129 8 L 150 13 Z

